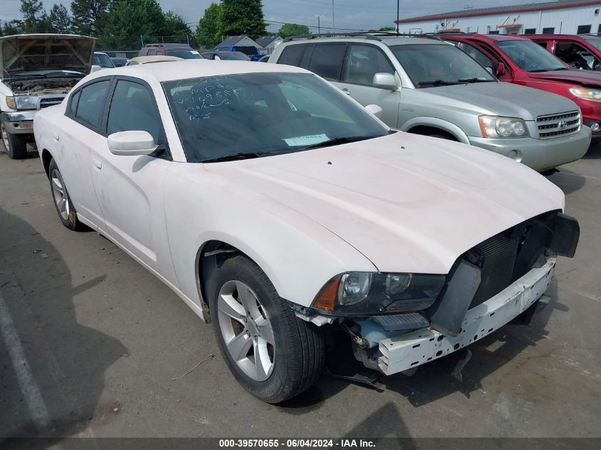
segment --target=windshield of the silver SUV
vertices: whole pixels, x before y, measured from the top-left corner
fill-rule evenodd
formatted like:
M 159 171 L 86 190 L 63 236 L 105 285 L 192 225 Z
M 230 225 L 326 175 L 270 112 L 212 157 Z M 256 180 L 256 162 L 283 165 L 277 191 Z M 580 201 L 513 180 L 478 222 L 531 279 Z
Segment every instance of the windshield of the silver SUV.
M 391 45 L 415 87 L 496 82 L 488 70 L 454 45 Z

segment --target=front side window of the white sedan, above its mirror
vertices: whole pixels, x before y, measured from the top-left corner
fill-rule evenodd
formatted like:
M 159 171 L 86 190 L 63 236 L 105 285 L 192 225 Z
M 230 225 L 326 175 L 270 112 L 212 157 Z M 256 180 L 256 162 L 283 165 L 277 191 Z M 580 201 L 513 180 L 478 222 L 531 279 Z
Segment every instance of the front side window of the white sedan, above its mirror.
M 139 130 L 149 132 L 158 144 L 161 119 L 149 90 L 136 82 L 117 81 L 113 92 L 107 134 Z

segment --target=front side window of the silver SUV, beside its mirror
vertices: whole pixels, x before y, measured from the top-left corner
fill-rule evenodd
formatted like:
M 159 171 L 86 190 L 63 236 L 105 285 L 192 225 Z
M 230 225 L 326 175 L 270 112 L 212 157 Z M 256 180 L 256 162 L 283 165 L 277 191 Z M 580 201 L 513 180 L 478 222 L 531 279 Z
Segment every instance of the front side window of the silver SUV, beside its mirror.
M 361 85 L 371 85 L 376 73 L 395 73 L 386 55 L 371 45 L 351 45 L 342 79 Z

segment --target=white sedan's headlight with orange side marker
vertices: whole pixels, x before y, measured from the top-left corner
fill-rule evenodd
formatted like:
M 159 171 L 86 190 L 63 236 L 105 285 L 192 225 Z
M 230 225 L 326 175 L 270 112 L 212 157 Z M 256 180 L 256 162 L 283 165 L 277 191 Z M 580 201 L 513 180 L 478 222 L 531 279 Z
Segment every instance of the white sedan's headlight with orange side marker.
M 312 306 L 339 316 L 370 316 L 427 309 L 445 275 L 347 272 L 325 284 Z

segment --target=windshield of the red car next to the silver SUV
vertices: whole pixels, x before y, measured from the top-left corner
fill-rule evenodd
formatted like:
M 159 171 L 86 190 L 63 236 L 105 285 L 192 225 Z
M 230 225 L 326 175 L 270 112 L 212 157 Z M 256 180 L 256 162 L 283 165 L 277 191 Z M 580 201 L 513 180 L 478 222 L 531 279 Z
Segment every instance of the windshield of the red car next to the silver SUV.
M 551 70 L 568 70 L 564 63 L 551 55 L 547 50 L 526 39 L 501 41 L 496 44 L 505 54 L 526 72 L 548 72 Z

